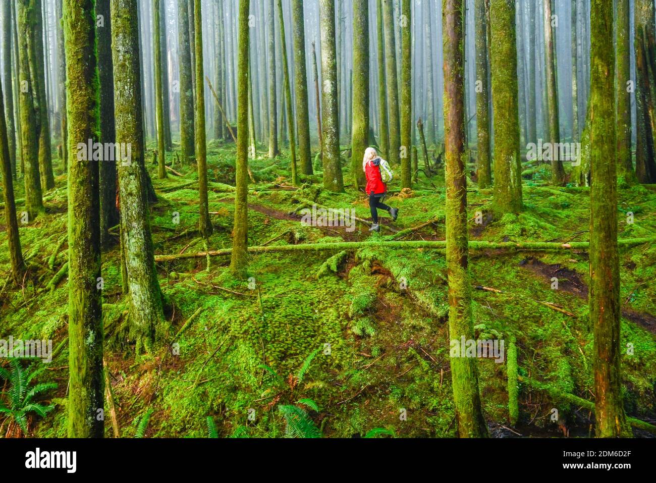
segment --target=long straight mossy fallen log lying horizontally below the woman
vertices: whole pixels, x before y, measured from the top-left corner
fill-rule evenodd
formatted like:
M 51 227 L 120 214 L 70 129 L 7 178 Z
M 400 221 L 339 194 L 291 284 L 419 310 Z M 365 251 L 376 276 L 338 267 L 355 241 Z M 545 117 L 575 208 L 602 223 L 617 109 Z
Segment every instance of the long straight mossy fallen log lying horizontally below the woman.
M 656 238 L 628 238 L 618 240 L 621 247 L 632 247 L 642 245 L 643 243 L 656 242 Z M 470 241 L 470 250 L 489 250 L 489 249 L 509 249 L 509 250 L 574 250 L 587 249 L 590 246 L 588 242 L 571 242 L 571 243 L 548 243 L 548 242 L 480 242 Z M 274 245 L 267 247 L 248 247 L 249 253 L 281 253 L 285 251 L 342 251 L 356 250 L 365 247 L 392 248 L 392 249 L 427 249 L 440 250 L 446 248 L 446 242 L 412 240 L 409 242 L 339 242 L 339 243 L 301 243 L 299 245 Z M 232 248 L 223 248 L 220 250 L 203 251 L 199 253 L 181 253 L 178 255 L 156 255 L 155 262 L 169 262 L 182 259 L 197 259 L 205 257 L 220 257 L 230 255 Z

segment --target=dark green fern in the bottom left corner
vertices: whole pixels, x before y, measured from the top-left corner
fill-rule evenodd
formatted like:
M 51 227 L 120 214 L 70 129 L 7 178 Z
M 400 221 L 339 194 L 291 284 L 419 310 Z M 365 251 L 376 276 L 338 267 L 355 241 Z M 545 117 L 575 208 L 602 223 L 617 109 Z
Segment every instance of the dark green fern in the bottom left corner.
M 10 383 L 7 392 L 0 392 L 0 396 L 9 398 L 9 406 L 5 406 L 0 400 L 0 413 L 5 413 L 11 417 L 27 436 L 28 414 L 37 413 L 39 416 L 45 417 L 47 413 L 54 409 L 54 404 L 43 406 L 43 404 L 34 402 L 35 396 L 41 392 L 55 389 L 57 385 L 55 383 L 41 383 L 30 387 L 31 381 L 45 370 L 45 366 L 31 371 L 31 366 L 24 368 L 17 358 L 10 358 L 9 364 L 11 366 L 9 370 L 0 368 L 0 378 Z

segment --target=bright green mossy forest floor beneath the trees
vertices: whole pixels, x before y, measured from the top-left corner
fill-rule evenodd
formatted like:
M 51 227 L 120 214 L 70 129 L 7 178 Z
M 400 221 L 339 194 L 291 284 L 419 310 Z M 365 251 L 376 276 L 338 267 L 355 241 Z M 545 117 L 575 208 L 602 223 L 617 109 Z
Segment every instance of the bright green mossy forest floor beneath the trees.
M 209 249 L 229 248 L 232 243 L 234 194 L 226 185 L 234 186 L 234 157 L 232 143 L 208 146 L 209 203 L 215 226 Z M 157 180 L 149 155 L 148 169 L 159 198 L 152 205 L 155 253 L 205 251 L 195 231 L 195 165 L 181 166 L 169 153 L 167 163 L 172 161 L 173 169 L 184 177 L 169 172 L 168 179 Z M 318 174 L 302 177 L 300 190 L 289 188 L 285 156 L 271 161 L 258 152 L 250 167 L 258 181 L 249 186 L 250 245 L 398 238 L 392 230 L 370 234 L 361 223 L 353 232 L 302 226 L 297 213 L 312 202 L 354 208 L 359 218 L 369 219 L 367 199 L 352 188 L 346 161 L 344 194 L 321 189 L 320 161 L 315 161 Z M 397 178 L 399 170 L 395 168 Z M 54 358 L 39 381 L 57 383 L 58 389 L 44 396 L 55 409 L 43 419 L 30 417 L 30 435 L 45 437 L 66 436 L 66 277 L 47 287 L 66 263 L 68 247 L 66 176 L 62 166 L 56 167 L 56 173 L 56 188 L 44 194 L 47 213 L 20 228 L 30 270 L 19 289 L 3 283 L 9 274 L 9 255 L 4 226 L 0 226 L 0 286 L 4 285 L 0 338 L 53 340 Z M 470 240 L 588 240 L 589 189 L 553 188 L 546 186 L 548 179 L 547 165 L 528 168 L 522 213 L 497 219 L 491 215 L 492 191 L 478 191 L 472 182 Z M 444 240 L 443 186 L 443 173 L 427 179 L 420 172 L 415 190 L 399 194 L 398 180 L 394 180 L 390 190 L 396 194 L 386 203 L 398 207 L 400 216 L 392 222 L 384 214 L 382 223 L 400 231 L 433 220 L 401 239 Z M 24 198 L 22 189 L 19 180 L 16 198 Z M 481 223 L 476 222 L 477 211 Z M 626 186 L 620 180 L 619 211 L 619 238 L 656 236 L 656 186 Z M 634 214 L 632 224 L 626 222 L 627 212 Z M 176 213 L 178 224 L 174 223 Z M 277 405 L 302 399 L 318 405 L 305 408 L 323 436 L 364 436 L 375 428 L 399 437 L 456 435 L 447 274 L 440 251 L 367 247 L 348 253 L 263 253 L 251 255 L 252 278 L 243 281 L 230 277 L 229 257 L 158 263 L 159 280 L 172 306 L 170 326 L 153 354 L 135 356 L 125 338 L 129 299 L 121 293 L 117 231 L 113 230 L 115 246 L 103 253 L 102 276 L 105 359 L 121 436 L 134 436 L 139 419 L 148 412 L 148 437 L 206 436 L 208 416 L 215 421 L 219 436 L 282 436 L 285 422 Z M 506 341 L 516 337 L 520 376 L 594 400 L 586 252 L 476 251 L 471 255 L 470 272 L 474 287 L 501 291 L 474 289 L 476 337 Z M 557 290 L 552 289 L 553 277 L 558 278 Z M 625 405 L 629 415 L 651 422 L 656 419 L 654 280 L 656 246 L 621 248 Z M 553 303 L 562 311 L 541 302 Z M 295 385 L 287 375 L 296 374 L 316 350 L 302 383 Z M 283 380 L 276 382 L 262 364 Z M 547 392 L 523 384 L 520 420 L 510 431 L 506 364 L 479 359 L 478 368 L 483 410 L 493 436 L 594 434 L 590 411 L 552 400 Z M 559 421 L 552 421 L 552 408 L 558 409 Z M 107 404 L 105 410 L 106 436 L 110 437 L 113 429 Z M 405 420 L 400 417 L 403 410 Z M 1 436 L 8 427 L 9 420 L 0 419 Z M 635 429 L 634 434 L 649 436 Z

